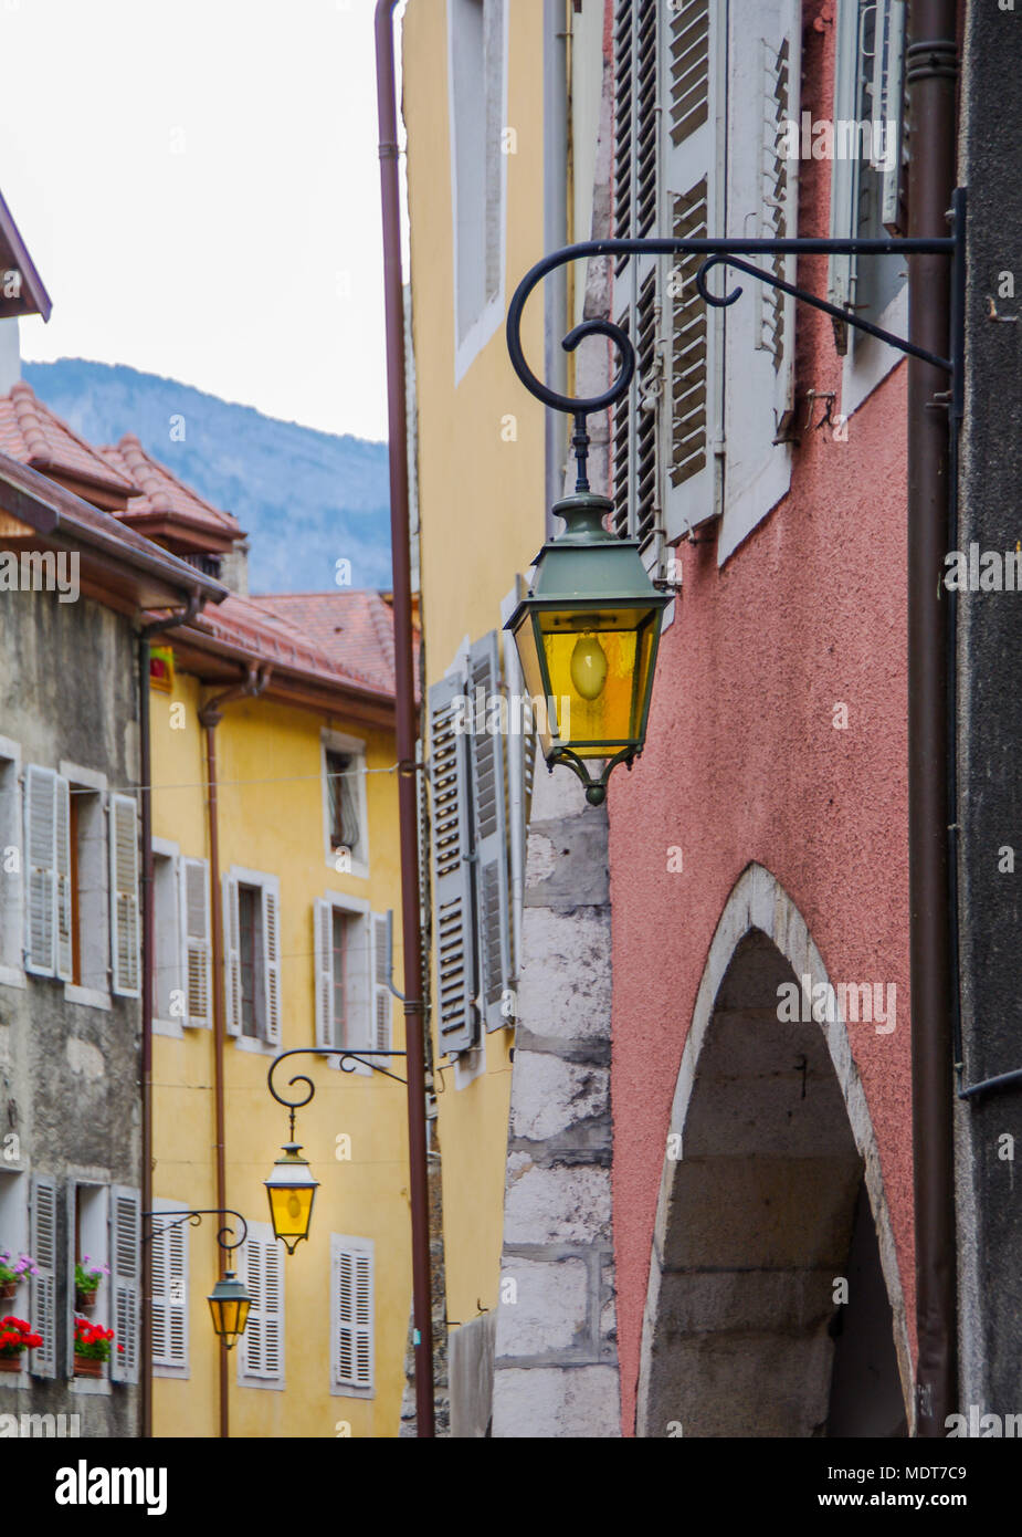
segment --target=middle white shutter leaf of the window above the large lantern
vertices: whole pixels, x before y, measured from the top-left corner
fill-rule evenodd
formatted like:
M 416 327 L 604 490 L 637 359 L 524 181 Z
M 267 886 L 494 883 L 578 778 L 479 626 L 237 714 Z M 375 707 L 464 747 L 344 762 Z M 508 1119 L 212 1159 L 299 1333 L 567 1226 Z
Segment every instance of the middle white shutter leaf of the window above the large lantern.
M 724 234 L 724 0 L 664 8 L 659 221 L 678 240 Z M 696 292 L 702 257 L 662 258 L 665 461 L 669 543 L 721 512 L 724 449 L 724 310 Z M 710 275 L 721 292 L 721 274 Z

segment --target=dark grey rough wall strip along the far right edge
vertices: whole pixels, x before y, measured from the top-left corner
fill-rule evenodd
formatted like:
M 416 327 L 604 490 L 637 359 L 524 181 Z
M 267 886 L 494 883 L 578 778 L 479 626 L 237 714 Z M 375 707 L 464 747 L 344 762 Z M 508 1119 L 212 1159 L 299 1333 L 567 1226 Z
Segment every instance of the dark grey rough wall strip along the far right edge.
M 1022 538 L 1022 0 L 970 0 L 959 177 L 968 188 L 959 549 Z M 1014 297 L 999 297 L 1000 274 Z M 990 318 L 990 303 L 1013 321 Z M 959 596 L 962 1010 L 971 1082 L 1022 1068 L 1022 592 Z M 999 850 L 1014 871 L 999 870 Z M 1014 1160 L 999 1156 L 1014 1137 Z M 1017 1165 L 1017 1167 L 1016 1167 Z M 974 1211 L 970 1210 L 974 1202 Z M 1022 1085 L 959 1111 L 965 1403 L 1022 1409 Z

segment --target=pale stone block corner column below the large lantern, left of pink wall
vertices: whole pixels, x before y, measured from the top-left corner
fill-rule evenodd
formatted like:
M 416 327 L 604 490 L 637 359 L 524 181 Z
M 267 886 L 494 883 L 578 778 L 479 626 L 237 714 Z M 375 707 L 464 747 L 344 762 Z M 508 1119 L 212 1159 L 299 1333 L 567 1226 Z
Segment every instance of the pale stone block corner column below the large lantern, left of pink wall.
M 610 1200 L 607 813 L 538 773 L 507 1140 L 495 1437 L 621 1429 Z

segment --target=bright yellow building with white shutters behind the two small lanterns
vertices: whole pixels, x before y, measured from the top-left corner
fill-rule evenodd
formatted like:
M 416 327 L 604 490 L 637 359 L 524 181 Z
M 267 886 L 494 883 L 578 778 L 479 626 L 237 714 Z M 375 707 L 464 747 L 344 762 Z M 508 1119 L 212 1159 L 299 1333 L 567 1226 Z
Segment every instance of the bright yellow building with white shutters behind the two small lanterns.
M 363 596 L 383 607 L 377 595 L 358 593 L 323 603 Z M 278 621 L 266 613 L 263 622 L 255 609 L 229 598 L 215 639 L 201 619 L 175 630 L 174 664 L 158 669 L 161 687 L 151 690 L 154 1434 L 212 1437 L 221 1426 L 223 1346 L 206 1303 L 220 1222 L 175 1225 L 160 1216 L 220 1205 L 212 922 L 220 902 L 224 1205 L 249 1225 L 231 1265 L 252 1296 L 246 1333 L 227 1354 L 227 1432 L 387 1437 L 398 1434 L 410 1303 L 401 1084 L 369 1068 L 369 1057 L 349 1059 L 352 1071 L 327 1056 L 283 1064 L 275 1082 L 284 1094 L 300 1097 L 301 1087 L 287 1088 L 297 1073 L 317 1088 L 297 1111 L 295 1137 L 320 1188 L 309 1239 L 294 1256 L 272 1237 L 263 1180 L 289 1140 L 287 1113 L 267 1091 L 277 1053 L 403 1050 L 387 991 L 386 915 L 400 905 L 392 699 L 384 689 L 344 682 L 340 669 L 332 676 L 310 646 L 289 650 L 294 632 L 281 639 Z M 246 669 L 261 692 L 220 704 L 212 730 L 215 882 L 211 716 L 203 724 L 200 715 L 232 675 L 244 681 Z M 401 1057 L 373 1061 L 404 1077 Z

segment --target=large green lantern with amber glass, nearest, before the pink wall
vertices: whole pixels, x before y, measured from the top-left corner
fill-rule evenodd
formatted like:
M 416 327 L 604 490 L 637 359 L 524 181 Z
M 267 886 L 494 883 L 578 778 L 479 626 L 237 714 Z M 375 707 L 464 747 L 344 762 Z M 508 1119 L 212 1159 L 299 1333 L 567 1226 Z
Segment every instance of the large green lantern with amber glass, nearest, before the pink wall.
M 566 764 L 601 805 L 607 778 L 645 742 L 664 607 L 639 559 L 638 539 L 609 533 L 613 503 L 592 492 L 558 501 L 567 524 L 543 546 L 535 579 L 504 629 L 515 636 L 526 687 L 544 701 L 539 741 L 547 765 Z M 606 759 L 592 779 L 586 759 Z

